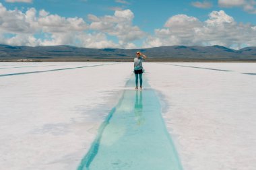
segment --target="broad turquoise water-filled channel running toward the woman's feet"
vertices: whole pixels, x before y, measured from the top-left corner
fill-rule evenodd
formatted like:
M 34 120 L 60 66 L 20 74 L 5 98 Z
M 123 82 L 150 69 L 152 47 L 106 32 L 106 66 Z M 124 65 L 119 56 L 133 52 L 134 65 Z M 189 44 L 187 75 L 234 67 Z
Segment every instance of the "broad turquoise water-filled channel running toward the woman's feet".
M 160 102 L 143 75 L 143 90 L 125 89 L 98 130 L 78 170 L 182 169 L 161 116 Z M 134 76 L 126 87 L 134 87 Z

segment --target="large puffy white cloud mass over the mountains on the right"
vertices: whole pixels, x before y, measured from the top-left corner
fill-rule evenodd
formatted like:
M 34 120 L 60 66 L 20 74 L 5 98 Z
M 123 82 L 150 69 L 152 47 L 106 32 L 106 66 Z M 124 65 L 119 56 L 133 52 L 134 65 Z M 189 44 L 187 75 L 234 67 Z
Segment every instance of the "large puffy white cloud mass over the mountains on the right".
M 187 45 L 222 45 L 230 48 L 256 46 L 256 30 L 251 24 L 236 23 L 224 11 L 212 11 L 204 22 L 187 15 L 170 17 L 164 28 L 155 30 L 143 47 Z

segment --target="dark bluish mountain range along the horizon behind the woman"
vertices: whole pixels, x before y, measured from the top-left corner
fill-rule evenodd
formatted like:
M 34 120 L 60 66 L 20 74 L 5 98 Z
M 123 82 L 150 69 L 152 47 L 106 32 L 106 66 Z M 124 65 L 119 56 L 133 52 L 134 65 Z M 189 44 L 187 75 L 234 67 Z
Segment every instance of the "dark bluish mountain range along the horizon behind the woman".
M 149 60 L 248 60 L 256 61 L 256 47 L 233 50 L 224 46 L 160 46 L 143 49 L 78 48 L 75 46 L 0 45 L 0 61 L 18 60 L 132 60 L 136 51 Z

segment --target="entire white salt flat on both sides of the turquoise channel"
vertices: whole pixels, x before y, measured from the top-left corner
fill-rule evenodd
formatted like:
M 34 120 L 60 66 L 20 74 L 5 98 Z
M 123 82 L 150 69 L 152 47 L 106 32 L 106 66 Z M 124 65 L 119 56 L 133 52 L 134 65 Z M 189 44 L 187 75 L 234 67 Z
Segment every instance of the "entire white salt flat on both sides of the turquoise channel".
M 254 63 L 143 65 L 184 169 L 255 169 Z M 1 169 L 76 169 L 133 63 L 0 63 L 0 75 L 83 66 L 0 77 Z

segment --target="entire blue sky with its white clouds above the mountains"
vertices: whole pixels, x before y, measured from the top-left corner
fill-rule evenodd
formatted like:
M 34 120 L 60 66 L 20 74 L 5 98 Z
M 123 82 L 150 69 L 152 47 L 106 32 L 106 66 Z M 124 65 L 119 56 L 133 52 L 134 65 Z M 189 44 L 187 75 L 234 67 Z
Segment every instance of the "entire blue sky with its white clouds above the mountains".
M 0 12 L 5 11 L 0 15 L 1 44 L 89 48 L 256 46 L 251 38 L 256 34 L 256 1 L 251 0 L 1 0 L 0 3 Z M 28 18 L 31 15 L 32 20 Z

